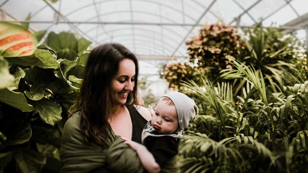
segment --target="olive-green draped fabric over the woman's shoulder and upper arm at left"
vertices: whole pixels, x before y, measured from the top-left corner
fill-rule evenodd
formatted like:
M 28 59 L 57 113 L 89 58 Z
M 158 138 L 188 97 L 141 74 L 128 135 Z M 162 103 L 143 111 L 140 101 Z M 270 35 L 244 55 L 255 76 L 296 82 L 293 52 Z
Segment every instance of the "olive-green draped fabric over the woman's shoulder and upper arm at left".
M 60 155 L 60 172 L 89 172 L 105 166 L 106 149 L 97 143 L 87 144 L 80 129 L 81 115 L 76 113 L 64 126 Z

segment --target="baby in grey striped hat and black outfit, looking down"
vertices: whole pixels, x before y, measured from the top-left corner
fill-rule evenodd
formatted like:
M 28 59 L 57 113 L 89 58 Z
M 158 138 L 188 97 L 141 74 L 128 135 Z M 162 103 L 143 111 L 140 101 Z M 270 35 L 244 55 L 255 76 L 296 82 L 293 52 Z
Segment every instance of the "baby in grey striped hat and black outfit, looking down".
M 164 164 L 177 155 L 179 138 L 190 120 L 198 114 L 193 99 L 180 92 L 164 95 L 155 111 L 149 105 L 152 119 L 142 131 L 142 144 L 122 138 L 140 158 L 148 172 L 160 172 Z

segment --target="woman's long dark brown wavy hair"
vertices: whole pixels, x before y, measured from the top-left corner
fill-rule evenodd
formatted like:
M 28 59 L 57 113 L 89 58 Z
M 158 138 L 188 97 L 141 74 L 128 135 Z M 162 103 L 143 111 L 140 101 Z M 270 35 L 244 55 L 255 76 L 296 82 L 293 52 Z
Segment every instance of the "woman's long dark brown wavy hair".
M 120 61 L 131 59 L 136 66 L 135 86 L 128 94 L 125 106 L 137 104 L 138 59 L 135 54 L 121 44 L 107 43 L 94 48 L 87 59 L 83 72 L 83 82 L 72 107 L 71 115 L 81 111 L 81 129 L 86 141 L 100 144 L 110 132 L 108 119 L 111 118 L 110 84 L 119 70 Z

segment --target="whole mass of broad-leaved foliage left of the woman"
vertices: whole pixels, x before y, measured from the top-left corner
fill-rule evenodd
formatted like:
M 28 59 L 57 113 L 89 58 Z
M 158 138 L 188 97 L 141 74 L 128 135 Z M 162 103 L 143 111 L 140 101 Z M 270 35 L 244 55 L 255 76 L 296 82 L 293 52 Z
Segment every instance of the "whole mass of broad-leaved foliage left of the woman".
M 0 172 L 57 172 L 67 110 L 91 42 L 0 22 Z M 12 81 L 12 82 L 10 82 Z

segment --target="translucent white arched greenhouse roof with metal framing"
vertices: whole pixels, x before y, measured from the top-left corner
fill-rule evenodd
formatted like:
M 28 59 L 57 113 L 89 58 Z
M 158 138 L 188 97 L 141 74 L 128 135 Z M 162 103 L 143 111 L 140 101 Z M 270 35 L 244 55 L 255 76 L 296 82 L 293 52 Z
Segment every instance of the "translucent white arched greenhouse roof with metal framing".
M 70 31 L 95 47 L 119 42 L 140 59 L 186 57 L 185 42 L 205 24 L 234 27 L 262 22 L 306 38 L 307 0 L 0 0 L 1 19 L 30 29 Z

